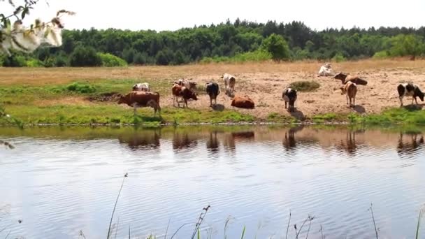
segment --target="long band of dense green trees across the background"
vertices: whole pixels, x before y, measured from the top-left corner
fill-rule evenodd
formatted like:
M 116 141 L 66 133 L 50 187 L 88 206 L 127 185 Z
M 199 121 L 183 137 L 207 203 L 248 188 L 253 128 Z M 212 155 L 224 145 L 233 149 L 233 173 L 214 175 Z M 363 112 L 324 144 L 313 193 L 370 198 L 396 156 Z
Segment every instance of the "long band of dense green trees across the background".
M 0 57 L 3 66 L 180 65 L 210 61 L 363 59 L 425 55 L 425 27 L 325 29 L 303 22 L 236 20 L 178 31 L 83 29 L 63 32 L 60 48 Z

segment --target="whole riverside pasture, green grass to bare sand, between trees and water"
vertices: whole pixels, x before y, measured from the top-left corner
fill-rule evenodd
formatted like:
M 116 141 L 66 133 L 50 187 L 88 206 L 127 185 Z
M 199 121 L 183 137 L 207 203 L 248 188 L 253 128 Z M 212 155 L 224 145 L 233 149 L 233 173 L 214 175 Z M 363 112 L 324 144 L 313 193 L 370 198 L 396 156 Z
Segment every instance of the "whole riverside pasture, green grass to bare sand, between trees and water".
M 299 61 L 117 68 L 1 68 L 0 106 L 22 124 L 425 124 L 420 108 L 398 108 L 398 99 L 391 93 L 396 90 L 394 85 L 401 81 L 401 75 L 413 72 L 417 78 L 425 76 L 422 70 L 425 61 L 367 60 L 333 64 L 335 71 L 359 73 L 369 80 L 367 87 L 359 89 L 356 109 L 346 107 L 345 96 L 340 95 L 338 88 L 340 82 L 317 78 L 320 64 Z M 214 80 L 223 88 L 219 74 L 224 72 L 236 75 L 236 94 L 250 96 L 256 104 L 254 109 L 232 107 L 231 98 L 225 96 L 223 90 L 217 100 L 219 107 L 209 107 L 204 83 Z M 190 101 L 189 109 L 173 107 L 171 83 L 178 78 L 193 78 L 199 83 L 199 100 Z M 386 80 L 381 82 L 381 78 Z M 161 116 L 155 116 L 151 108 L 138 109 L 135 116 L 128 106 L 117 105 L 117 97 L 129 92 L 135 82 L 149 82 L 152 91 L 159 92 Z M 287 86 L 299 90 L 295 113 L 289 113 L 281 99 L 282 89 Z M 375 90 L 378 86 L 388 91 Z M 10 120 L 0 119 L 0 124 L 10 124 Z

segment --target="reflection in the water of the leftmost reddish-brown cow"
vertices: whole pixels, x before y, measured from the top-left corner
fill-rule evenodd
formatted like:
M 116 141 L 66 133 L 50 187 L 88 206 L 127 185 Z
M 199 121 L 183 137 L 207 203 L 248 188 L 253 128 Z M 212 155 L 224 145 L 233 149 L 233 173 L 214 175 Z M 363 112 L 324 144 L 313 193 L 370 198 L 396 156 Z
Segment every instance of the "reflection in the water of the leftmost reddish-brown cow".
M 118 137 L 121 144 L 127 144 L 131 150 L 156 149 L 159 147 L 159 131 L 134 131 Z

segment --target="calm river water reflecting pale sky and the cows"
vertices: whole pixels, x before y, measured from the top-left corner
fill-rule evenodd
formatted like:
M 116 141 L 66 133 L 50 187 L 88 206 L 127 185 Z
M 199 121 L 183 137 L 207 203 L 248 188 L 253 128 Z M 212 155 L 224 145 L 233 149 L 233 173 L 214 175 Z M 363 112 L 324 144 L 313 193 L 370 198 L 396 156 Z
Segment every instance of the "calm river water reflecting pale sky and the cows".
M 0 238 L 413 238 L 425 203 L 424 136 L 396 129 L 196 126 L 0 128 Z M 18 220 L 22 219 L 19 224 Z M 117 223 L 119 220 L 119 223 Z M 308 229 L 308 225 L 305 226 Z M 303 230 L 305 238 L 306 231 Z M 424 234 L 425 235 L 425 234 Z M 423 237 L 425 238 L 425 236 Z

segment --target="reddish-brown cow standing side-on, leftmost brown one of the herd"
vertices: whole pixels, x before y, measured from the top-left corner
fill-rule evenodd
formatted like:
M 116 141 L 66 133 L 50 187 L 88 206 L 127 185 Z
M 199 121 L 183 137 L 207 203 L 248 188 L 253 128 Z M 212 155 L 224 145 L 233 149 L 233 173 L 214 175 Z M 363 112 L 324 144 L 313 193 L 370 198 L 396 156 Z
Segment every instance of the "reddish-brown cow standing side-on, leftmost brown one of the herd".
M 118 103 L 127 103 L 127 106 L 134 107 L 134 115 L 136 115 L 136 108 L 141 107 L 152 107 L 155 115 L 157 111 L 161 114 L 158 92 L 130 92 L 125 96 L 120 96 Z

